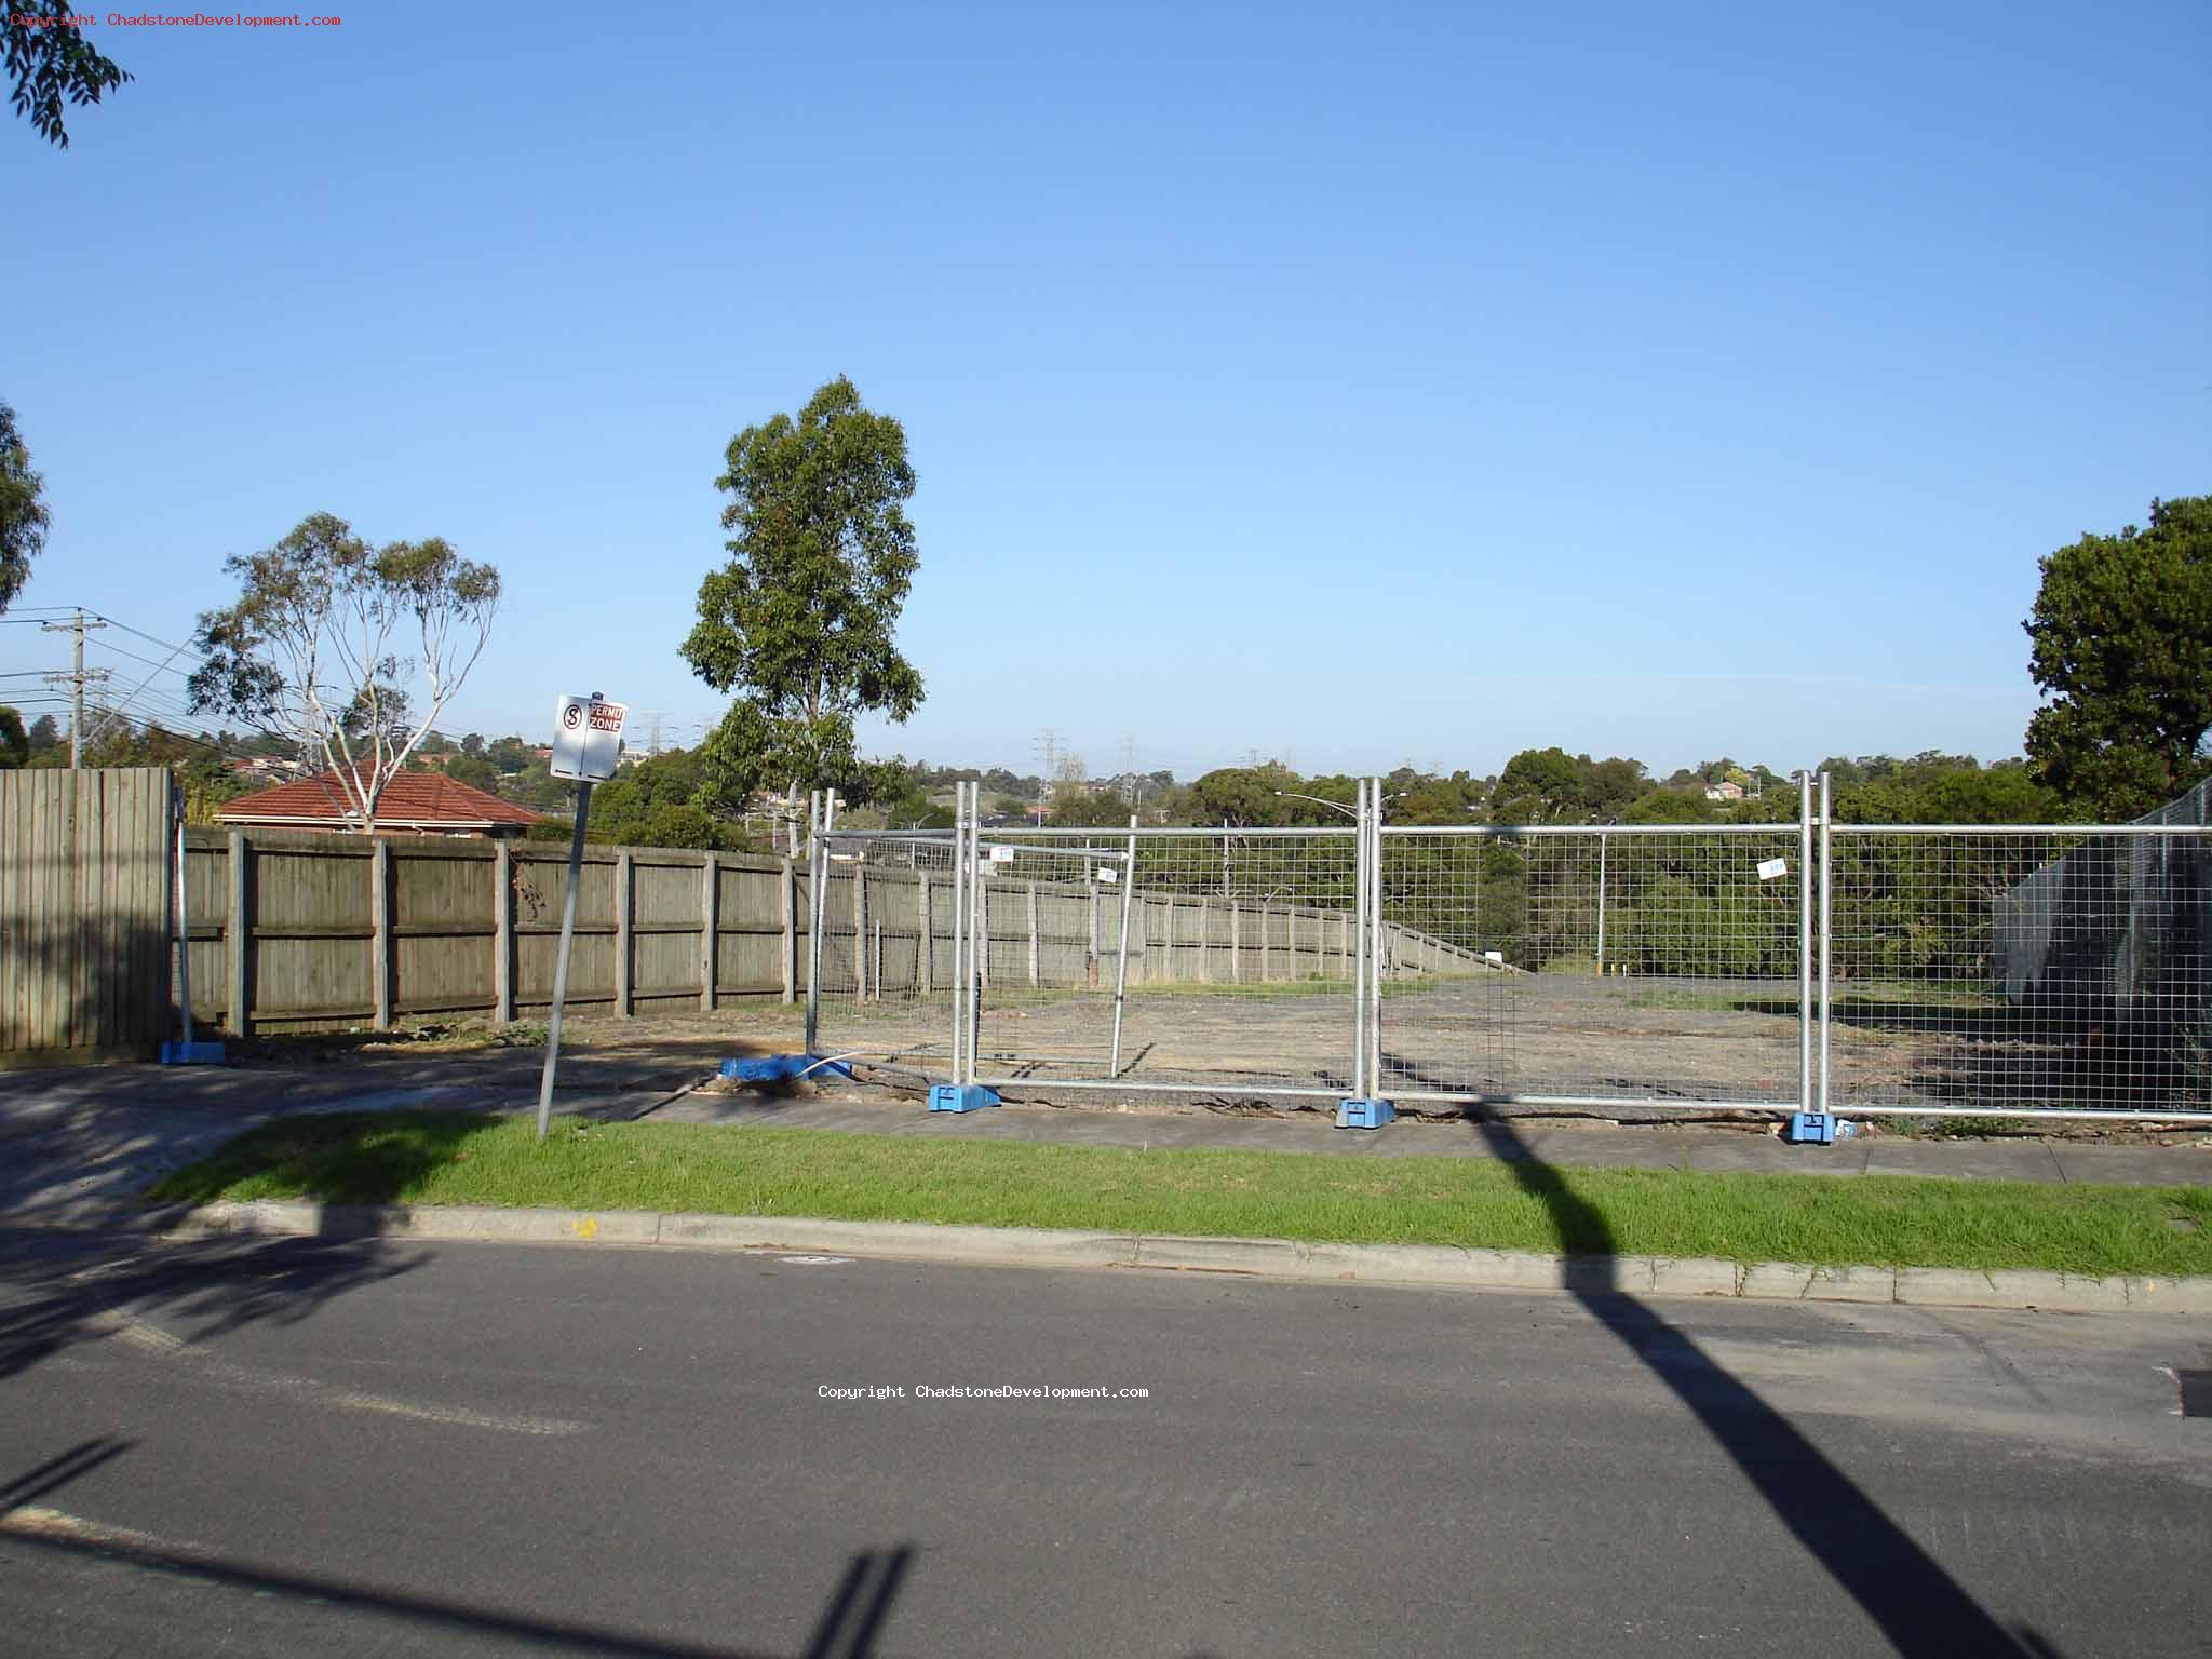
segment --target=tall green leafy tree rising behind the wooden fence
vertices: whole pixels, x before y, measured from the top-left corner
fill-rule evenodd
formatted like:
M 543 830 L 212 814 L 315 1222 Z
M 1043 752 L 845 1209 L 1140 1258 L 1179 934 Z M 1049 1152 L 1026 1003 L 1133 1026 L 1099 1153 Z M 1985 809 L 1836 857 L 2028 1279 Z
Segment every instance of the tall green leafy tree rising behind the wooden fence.
M 894 633 L 920 566 L 905 502 L 907 434 L 860 403 L 852 380 L 821 387 L 730 440 L 714 487 L 730 562 L 699 584 L 684 659 L 734 701 L 706 741 L 726 803 L 754 790 L 836 787 L 854 801 L 905 779 L 858 757 L 854 719 L 905 721 L 922 677 Z

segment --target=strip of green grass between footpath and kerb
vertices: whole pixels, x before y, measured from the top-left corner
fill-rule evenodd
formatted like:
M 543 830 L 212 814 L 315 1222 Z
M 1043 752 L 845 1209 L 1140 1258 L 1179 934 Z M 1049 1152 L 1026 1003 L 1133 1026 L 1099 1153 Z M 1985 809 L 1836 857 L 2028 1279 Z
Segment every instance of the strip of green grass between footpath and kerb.
M 148 1197 L 681 1210 L 1575 1254 L 2212 1274 L 2212 1188 L 1139 1152 L 577 1119 L 560 1119 L 544 1148 L 531 1137 L 529 1119 L 467 1113 L 288 1117 L 166 1177 Z

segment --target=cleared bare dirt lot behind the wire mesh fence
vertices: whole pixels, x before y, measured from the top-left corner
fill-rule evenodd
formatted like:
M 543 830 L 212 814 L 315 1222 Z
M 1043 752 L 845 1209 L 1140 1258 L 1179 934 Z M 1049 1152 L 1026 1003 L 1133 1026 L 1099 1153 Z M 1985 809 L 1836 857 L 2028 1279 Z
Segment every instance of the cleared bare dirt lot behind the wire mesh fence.
M 1796 998 L 1794 980 L 1502 973 L 1398 982 L 1383 998 L 1383 1086 L 1402 1099 L 1794 1104 Z M 978 1075 L 1033 1086 L 1117 1075 L 1223 1095 L 1343 1093 L 1354 1031 L 1347 984 L 1130 991 L 1113 1073 L 1110 993 L 995 991 L 984 1000 Z M 821 1035 L 825 1053 L 905 1053 L 942 1071 L 951 1004 L 940 995 L 830 1006 Z M 2185 1055 L 2124 1048 L 2088 1022 L 2031 1029 L 2000 1000 L 1955 991 L 1838 989 L 1829 1068 L 1840 1108 L 2205 1104 L 2203 1068 Z

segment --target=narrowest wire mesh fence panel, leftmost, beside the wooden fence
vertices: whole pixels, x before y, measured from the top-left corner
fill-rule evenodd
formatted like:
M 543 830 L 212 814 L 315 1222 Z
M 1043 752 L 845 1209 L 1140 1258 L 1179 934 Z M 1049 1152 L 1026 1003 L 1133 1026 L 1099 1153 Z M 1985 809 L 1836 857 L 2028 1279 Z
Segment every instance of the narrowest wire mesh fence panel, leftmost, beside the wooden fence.
M 951 1075 L 953 832 L 821 836 L 814 1046 Z

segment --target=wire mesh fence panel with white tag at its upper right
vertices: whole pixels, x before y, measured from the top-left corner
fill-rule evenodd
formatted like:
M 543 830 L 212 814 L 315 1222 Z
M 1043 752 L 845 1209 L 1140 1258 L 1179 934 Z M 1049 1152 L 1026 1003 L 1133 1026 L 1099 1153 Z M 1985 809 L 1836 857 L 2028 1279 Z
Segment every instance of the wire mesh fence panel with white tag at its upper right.
M 1798 825 L 1385 827 L 1380 843 L 1380 1093 L 1798 1099 Z

